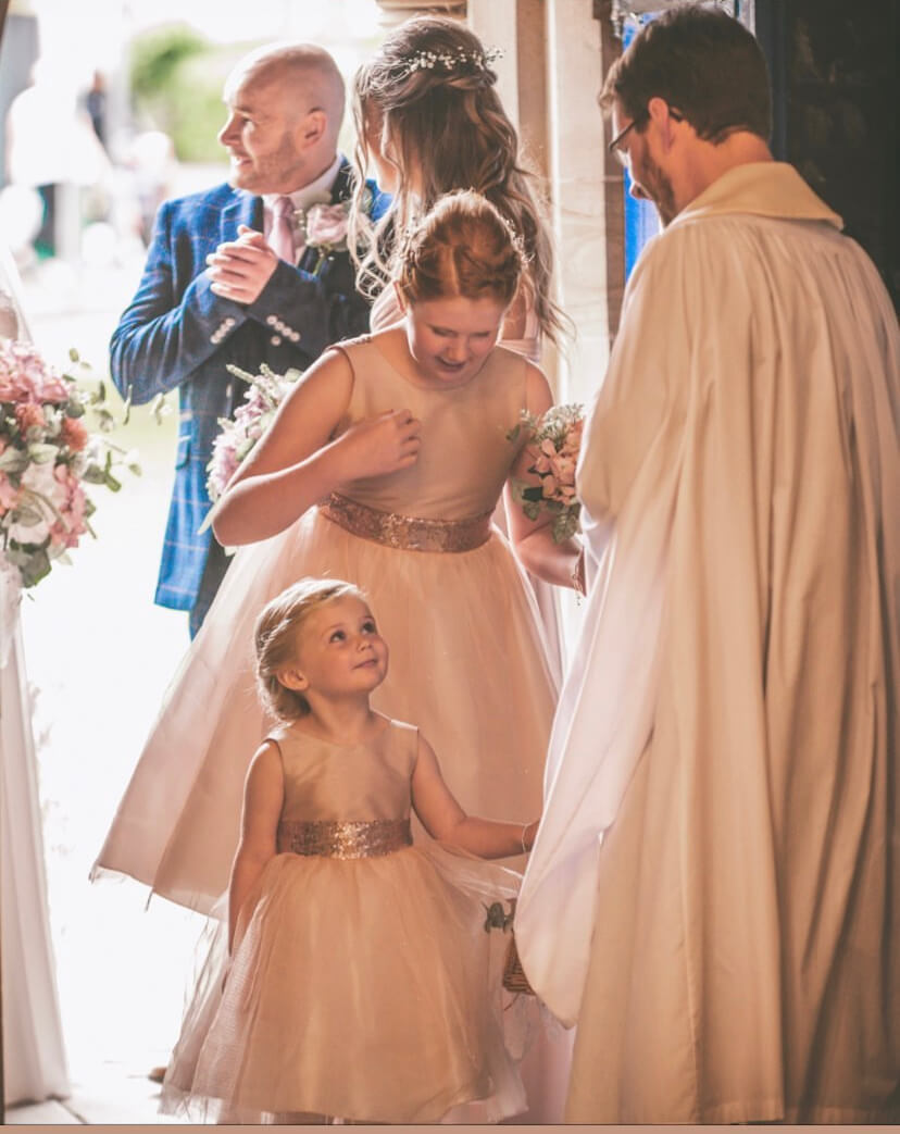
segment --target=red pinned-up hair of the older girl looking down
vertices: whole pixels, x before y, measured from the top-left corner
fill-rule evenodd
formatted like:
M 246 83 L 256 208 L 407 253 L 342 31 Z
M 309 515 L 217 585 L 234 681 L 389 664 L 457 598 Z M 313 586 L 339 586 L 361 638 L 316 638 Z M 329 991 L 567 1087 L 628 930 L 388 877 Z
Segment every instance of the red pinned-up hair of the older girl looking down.
M 398 266 L 397 285 L 409 303 L 490 296 L 508 306 L 527 279 L 521 240 L 472 189 L 440 198 L 410 232 Z

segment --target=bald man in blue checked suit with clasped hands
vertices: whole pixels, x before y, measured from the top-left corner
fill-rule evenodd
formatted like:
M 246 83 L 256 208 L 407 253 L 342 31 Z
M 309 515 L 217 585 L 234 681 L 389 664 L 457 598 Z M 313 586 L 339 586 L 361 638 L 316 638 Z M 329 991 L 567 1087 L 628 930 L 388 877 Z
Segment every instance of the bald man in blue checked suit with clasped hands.
M 196 634 L 228 559 L 212 532 L 206 465 L 244 399 L 227 365 L 304 370 L 330 344 L 368 329 L 348 252 L 315 245 L 306 217 L 351 192 L 337 151 L 343 81 L 331 56 L 308 43 L 263 48 L 224 86 L 219 141 L 228 184 L 165 202 L 137 294 L 110 342 L 112 380 L 139 405 L 178 389 L 175 486 L 155 601 L 190 612 Z M 387 206 L 370 183 L 373 214 Z

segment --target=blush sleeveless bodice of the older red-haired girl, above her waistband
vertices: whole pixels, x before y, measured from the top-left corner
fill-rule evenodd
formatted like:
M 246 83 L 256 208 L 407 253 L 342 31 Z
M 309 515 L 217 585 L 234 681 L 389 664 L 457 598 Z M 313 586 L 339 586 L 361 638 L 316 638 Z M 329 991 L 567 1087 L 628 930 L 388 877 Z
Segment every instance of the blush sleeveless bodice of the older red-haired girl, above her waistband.
M 523 445 L 507 433 L 526 408 L 527 362 L 495 347 L 464 386 L 422 387 L 382 354 L 379 338 L 341 345 L 354 389 L 337 434 L 388 409 L 408 408 L 422 422 L 418 460 L 388 476 L 346 484 L 343 496 L 387 513 L 467 519 L 492 511 Z

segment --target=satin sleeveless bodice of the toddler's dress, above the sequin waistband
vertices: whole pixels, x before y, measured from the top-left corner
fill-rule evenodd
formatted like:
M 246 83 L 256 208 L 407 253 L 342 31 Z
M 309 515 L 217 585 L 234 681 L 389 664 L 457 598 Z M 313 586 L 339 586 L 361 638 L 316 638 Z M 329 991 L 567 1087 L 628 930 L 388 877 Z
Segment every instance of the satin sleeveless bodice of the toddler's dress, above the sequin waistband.
M 333 744 L 286 727 L 272 733 L 285 770 L 282 823 L 407 819 L 418 730 L 389 721 L 364 744 Z

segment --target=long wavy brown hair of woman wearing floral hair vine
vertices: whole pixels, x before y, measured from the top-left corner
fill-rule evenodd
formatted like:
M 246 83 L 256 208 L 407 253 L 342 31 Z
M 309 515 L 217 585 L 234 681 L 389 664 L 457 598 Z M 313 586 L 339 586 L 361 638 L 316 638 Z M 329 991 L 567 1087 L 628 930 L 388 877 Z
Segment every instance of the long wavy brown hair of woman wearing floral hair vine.
M 558 341 L 568 320 L 551 298 L 553 253 L 547 223 L 518 160 L 519 142 L 494 90 L 496 74 L 481 41 L 455 19 L 415 16 L 383 42 L 354 81 L 357 188 L 350 248 L 357 286 L 375 295 L 396 276 L 408 226 L 439 197 L 472 188 L 521 237 L 542 331 Z M 371 147 L 397 169 L 393 203 L 374 227 L 364 214 Z M 415 187 L 415 188 L 414 188 Z

